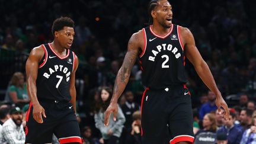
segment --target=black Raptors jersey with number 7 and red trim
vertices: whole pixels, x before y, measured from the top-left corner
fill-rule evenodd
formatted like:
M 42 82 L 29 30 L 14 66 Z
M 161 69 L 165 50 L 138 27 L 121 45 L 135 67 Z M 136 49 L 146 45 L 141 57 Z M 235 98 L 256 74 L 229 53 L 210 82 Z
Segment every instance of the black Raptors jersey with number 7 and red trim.
M 44 57 L 39 63 L 37 75 L 37 97 L 70 101 L 69 85 L 75 66 L 75 53 L 67 49 L 65 57 L 60 57 L 50 43 L 41 45 Z

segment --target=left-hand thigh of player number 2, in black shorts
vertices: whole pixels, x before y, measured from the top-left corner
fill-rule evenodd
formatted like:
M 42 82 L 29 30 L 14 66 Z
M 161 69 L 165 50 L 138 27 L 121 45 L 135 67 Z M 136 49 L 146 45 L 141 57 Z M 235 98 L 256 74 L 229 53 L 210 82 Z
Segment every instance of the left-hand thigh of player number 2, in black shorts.
M 155 91 L 145 93 L 142 102 L 142 142 L 162 144 L 167 140 L 165 97 Z

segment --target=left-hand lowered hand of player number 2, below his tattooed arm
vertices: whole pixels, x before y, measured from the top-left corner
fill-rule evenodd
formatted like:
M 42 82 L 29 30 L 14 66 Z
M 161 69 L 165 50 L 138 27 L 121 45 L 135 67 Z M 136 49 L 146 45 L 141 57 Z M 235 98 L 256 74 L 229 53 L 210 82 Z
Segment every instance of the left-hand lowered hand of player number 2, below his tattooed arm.
M 110 103 L 110 105 L 108 105 L 107 110 L 105 111 L 105 117 L 104 117 L 105 126 L 108 126 L 111 113 L 114 113 L 114 121 L 116 121 L 117 112 L 118 112 L 117 103 Z

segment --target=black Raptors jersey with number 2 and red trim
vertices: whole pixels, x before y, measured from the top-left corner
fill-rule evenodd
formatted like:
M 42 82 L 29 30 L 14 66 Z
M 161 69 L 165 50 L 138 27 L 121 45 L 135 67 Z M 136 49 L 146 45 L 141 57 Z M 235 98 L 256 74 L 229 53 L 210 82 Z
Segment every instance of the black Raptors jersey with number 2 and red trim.
M 187 82 L 185 56 L 180 40 L 180 26 L 172 24 L 166 36 L 158 36 L 152 25 L 142 28 L 143 52 L 139 56 L 142 65 L 142 83 L 149 88 L 166 88 Z

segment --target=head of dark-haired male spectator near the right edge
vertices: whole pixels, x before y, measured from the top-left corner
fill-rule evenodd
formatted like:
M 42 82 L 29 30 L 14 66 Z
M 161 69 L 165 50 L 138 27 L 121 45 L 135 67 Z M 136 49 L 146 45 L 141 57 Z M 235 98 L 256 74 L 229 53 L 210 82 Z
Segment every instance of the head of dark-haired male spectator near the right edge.
M 249 127 L 251 127 L 251 123 L 252 123 L 252 110 L 248 110 L 248 109 L 243 109 L 240 112 L 240 123 L 242 126 L 242 130 L 244 132 L 244 130 L 249 129 Z

